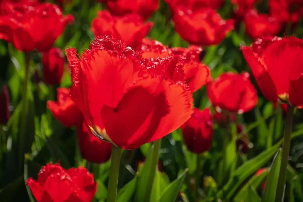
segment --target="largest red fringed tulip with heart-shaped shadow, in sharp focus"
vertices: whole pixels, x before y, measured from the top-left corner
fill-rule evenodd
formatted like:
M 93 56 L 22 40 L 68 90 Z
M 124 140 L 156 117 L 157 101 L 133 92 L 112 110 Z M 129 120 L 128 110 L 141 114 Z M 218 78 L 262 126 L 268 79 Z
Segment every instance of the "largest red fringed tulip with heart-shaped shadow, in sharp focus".
M 74 83 L 72 100 L 97 136 L 135 149 L 169 134 L 190 117 L 193 100 L 185 86 L 148 74 L 138 53 L 122 41 L 97 37 L 80 60 L 75 48 L 66 52 Z

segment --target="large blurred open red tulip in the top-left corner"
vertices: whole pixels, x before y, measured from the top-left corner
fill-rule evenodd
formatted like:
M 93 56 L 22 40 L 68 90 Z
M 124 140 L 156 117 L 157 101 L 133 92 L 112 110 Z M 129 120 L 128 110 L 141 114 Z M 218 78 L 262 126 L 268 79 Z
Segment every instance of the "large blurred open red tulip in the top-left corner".
M 47 51 L 72 19 L 47 2 L 7 4 L 0 16 L 0 39 L 21 51 Z

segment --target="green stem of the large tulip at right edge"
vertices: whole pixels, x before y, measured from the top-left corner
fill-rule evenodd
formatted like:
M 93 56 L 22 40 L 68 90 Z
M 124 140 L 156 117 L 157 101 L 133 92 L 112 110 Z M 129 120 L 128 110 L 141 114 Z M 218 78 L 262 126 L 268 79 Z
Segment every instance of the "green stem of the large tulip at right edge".
M 282 157 L 281 157 L 281 167 L 279 172 L 278 187 L 276 194 L 276 202 L 281 202 L 284 196 L 284 187 L 286 179 L 286 171 L 288 165 L 288 155 L 290 151 L 290 141 L 291 141 L 291 131 L 292 131 L 292 121 L 294 116 L 295 108 L 288 105 L 286 114 L 286 123 L 284 131 L 284 141 L 282 146 Z

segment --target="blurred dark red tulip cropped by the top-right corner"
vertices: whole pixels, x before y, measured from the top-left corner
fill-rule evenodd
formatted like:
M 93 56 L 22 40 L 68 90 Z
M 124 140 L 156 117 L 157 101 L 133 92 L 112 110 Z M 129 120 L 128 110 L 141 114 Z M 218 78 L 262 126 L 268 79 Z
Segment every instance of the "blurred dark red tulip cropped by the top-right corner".
M 269 14 L 286 25 L 287 22 L 296 23 L 303 15 L 303 1 L 299 0 L 268 0 Z

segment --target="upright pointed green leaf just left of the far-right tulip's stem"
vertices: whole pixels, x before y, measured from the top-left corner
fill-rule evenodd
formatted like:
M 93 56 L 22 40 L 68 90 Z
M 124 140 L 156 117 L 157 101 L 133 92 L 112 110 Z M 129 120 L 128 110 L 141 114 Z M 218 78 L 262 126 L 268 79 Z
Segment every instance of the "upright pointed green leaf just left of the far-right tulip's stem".
M 270 170 L 268 172 L 264 194 L 262 198 L 263 201 L 275 201 L 281 166 L 281 151 L 281 148 L 277 151 L 274 160 L 271 164 Z

